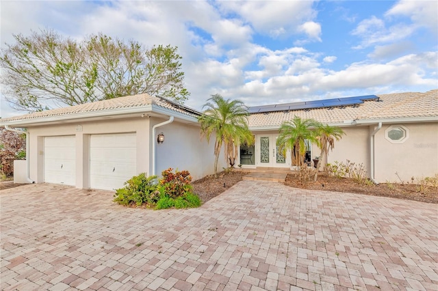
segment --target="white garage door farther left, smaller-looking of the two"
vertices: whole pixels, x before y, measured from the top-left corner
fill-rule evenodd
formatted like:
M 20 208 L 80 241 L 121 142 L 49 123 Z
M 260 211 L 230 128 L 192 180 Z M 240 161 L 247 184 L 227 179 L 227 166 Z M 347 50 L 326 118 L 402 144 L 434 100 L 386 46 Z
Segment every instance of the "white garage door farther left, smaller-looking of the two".
M 76 142 L 74 135 L 44 137 L 44 181 L 76 184 Z

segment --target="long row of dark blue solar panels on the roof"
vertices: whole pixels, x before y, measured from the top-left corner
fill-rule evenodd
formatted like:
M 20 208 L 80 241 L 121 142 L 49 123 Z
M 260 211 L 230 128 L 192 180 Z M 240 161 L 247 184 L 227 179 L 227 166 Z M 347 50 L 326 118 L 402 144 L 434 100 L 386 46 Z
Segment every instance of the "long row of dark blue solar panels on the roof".
M 379 100 L 376 95 L 356 96 L 346 98 L 334 98 L 326 100 L 312 100 L 303 102 L 292 102 L 277 105 L 261 105 L 249 107 L 249 113 L 268 113 L 276 111 L 291 111 L 302 109 L 316 109 L 316 108 L 331 108 L 331 107 L 344 107 L 352 105 L 363 104 L 365 100 Z

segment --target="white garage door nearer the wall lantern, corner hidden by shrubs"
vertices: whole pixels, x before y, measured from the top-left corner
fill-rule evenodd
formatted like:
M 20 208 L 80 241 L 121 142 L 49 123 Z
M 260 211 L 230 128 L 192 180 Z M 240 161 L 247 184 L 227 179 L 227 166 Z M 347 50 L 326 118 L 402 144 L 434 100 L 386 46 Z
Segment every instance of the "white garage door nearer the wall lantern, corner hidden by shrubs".
M 136 134 L 90 136 L 90 188 L 113 190 L 136 175 Z

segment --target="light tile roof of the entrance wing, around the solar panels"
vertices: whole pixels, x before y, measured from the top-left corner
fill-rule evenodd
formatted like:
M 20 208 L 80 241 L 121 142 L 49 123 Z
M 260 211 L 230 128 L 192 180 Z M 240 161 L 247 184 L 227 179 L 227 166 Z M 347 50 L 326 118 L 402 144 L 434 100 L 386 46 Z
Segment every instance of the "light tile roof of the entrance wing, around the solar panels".
M 248 117 L 250 128 L 279 127 L 294 116 L 313 118 L 326 124 L 342 124 L 352 120 L 437 117 L 438 89 L 426 93 L 396 93 L 377 95 L 379 102 L 365 100 L 361 105 L 318 108 L 310 110 L 254 113 Z

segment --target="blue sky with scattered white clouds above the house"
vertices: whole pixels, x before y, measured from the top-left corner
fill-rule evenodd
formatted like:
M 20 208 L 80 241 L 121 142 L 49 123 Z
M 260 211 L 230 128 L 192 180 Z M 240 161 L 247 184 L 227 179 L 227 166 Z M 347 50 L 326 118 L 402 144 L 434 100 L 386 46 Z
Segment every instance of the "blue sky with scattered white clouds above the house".
M 1 47 L 51 28 L 183 57 L 186 105 L 266 105 L 438 88 L 437 1 L 1 1 Z M 2 117 L 22 114 L 1 96 Z

